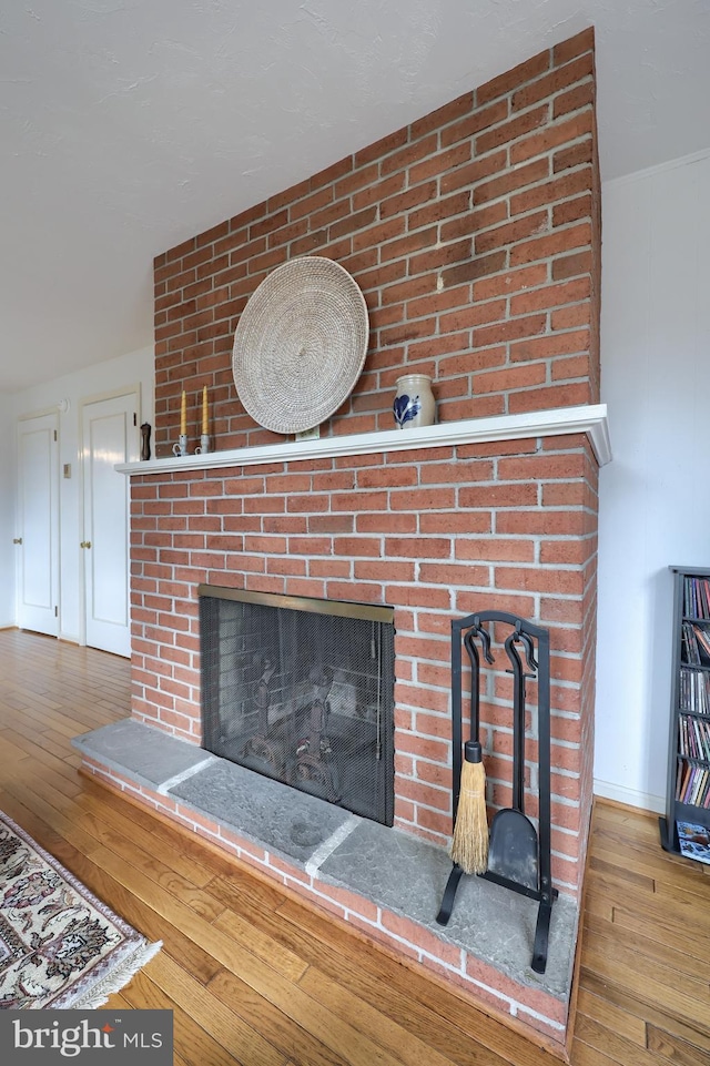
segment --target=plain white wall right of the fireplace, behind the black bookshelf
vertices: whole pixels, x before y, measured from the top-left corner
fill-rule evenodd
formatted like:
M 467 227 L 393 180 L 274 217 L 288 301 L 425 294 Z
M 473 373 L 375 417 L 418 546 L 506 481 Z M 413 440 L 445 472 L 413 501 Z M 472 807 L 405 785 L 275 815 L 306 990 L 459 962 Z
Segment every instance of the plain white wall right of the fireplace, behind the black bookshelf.
M 605 184 L 595 789 L 665 804 L 672 565 L 710 566 L 710 152 Z

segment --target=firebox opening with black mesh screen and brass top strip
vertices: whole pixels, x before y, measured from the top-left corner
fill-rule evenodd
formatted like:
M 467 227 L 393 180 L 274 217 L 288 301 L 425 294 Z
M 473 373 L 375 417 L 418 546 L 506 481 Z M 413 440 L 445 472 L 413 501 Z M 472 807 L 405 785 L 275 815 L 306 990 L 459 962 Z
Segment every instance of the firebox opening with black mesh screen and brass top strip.
M 394 820 L 394 609 L 201 585 L 203 745 Z

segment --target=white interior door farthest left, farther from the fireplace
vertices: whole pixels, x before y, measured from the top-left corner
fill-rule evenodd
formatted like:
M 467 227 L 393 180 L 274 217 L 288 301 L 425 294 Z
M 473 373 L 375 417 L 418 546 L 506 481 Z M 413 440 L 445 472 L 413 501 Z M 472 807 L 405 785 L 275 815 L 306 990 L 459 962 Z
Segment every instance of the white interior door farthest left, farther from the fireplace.
M 59 634 L 59 444 L 57 414 L 18 430 L 18 626 Z

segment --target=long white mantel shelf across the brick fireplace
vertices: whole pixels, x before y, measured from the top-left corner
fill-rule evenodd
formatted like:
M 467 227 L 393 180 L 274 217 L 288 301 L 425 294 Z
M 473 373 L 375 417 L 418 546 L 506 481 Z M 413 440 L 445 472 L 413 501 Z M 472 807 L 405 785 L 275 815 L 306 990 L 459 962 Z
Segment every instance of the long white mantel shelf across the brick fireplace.
M 404 430 L 384 429 L 305 440 L 288 438 L 283 443 L 262 445 L 256 448 L 232 448 L 224 451 L 209 451 L 206 455 L 169 456 L 144 463 L 122 463 L 115 469 L 131 476 L 166 474 L 173 470 L 207 470 L 217 467 L 255 466 L 263 463 L 296 463 L 300 459 L 407 451 L 458 444 L 486 444 L 494 440 L 560 436 L 570 433 L 588 435 L 599 466 L 611 460 L 607 405 L 588 404 L 579 407 L 526 412 L 519 415 L 465 418 L 462 422 L 446 422 L 438 426 Z

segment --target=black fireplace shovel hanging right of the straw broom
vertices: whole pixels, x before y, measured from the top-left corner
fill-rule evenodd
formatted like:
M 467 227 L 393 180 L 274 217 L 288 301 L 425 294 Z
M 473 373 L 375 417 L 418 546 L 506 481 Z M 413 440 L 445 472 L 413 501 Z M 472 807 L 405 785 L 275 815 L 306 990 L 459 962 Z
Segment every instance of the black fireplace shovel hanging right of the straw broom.
M 525 647 L 530 674 L 516 648 Z M 513 806 L 498 811 L 490 823 L 488 870 L 490 873 L 525 885 L 536 892 L 539 885 L 540 860 L 537 832 L 525 813 L 525 680 L 536 677 L 532 641 L 525 632 L 513 632 L 507 638 L 506 653 L 513 663 Z

